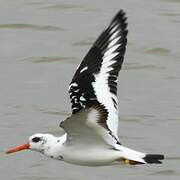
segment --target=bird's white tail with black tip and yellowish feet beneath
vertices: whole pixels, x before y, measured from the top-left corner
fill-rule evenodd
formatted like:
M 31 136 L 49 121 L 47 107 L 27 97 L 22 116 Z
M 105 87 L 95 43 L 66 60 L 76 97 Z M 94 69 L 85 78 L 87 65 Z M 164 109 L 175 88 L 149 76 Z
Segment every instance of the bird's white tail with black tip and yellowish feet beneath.
M 161 160 L 164 159 L 164 155 L 161 154 L 146 154 L 121 145 L 117 145 L 116 149 L 121 151 L 125 164 L 161 164 Z

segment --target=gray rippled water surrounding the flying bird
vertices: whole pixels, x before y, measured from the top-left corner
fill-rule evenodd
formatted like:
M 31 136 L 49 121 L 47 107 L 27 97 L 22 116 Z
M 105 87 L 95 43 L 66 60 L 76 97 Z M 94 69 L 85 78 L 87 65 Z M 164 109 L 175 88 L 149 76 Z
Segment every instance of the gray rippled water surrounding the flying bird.
M 58 133 L 70 114 L 68 84 L 114 14 L 128 16 L 119 77 L 119 135 L 161 165 L 80 167 L 35 152 L 5 155 L 35 132 Z M 180 178 L 179 0 L 0 0 L 0 179 Z

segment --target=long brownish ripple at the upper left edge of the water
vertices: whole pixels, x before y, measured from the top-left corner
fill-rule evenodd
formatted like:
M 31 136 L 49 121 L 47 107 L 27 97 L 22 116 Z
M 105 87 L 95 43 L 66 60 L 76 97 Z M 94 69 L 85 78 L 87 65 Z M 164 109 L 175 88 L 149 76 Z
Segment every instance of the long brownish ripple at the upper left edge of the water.
M 35 30 L 35 31 L 63 31 L 64 29 L 61 27 L 56 26 L 41 26 L 35 24 L 23 24 L 23 23 L 16 23 L 16 24 L 0 24 L 0 29 L 22 29 L 22 30 Z

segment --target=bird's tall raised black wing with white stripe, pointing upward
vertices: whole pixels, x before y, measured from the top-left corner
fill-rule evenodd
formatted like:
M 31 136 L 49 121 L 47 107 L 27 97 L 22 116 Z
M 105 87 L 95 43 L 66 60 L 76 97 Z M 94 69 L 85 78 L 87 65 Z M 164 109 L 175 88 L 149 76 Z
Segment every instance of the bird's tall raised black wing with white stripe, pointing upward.
M 127 43 L 125 13 L 120 10 L 89 50 L 70 83 L 72 113 L 98 101 L 108 112 L 107 126 L 117 137 L 117 77 Z

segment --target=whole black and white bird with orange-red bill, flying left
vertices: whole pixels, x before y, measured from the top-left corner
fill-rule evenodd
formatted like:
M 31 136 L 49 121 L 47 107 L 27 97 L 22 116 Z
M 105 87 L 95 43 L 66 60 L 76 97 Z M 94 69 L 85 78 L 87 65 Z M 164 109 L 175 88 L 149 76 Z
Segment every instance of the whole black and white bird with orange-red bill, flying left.
M 60 123 L 65 134 L 55 137 L 37 133 L 28 143 L 6 153 L 30 149 L 84 166 L 161 163 L 163 155 L 126 148 L 118 138 L 117 78 L 127 34 L 127 18 L 120 10 L 84 57 L 70 83 L 72 115 Z

